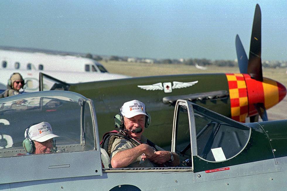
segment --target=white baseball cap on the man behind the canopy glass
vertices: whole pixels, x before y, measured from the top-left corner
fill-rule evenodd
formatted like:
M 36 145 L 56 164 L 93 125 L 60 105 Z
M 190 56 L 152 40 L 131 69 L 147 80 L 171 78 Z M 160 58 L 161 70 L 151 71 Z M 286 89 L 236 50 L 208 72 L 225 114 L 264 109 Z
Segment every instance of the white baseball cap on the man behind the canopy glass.
M 25 137 L 30 138 L 31 140 L 38 141 L 38 142 L 45 142 L 49 139 L 54 137 L 59 137 L 53 134 L 52 127 L 48 122 L 42 122 L 35 125 L 32 125 L 28 129 L 25 130 Z M 28 136 L 27 136 L 28 133 Z

